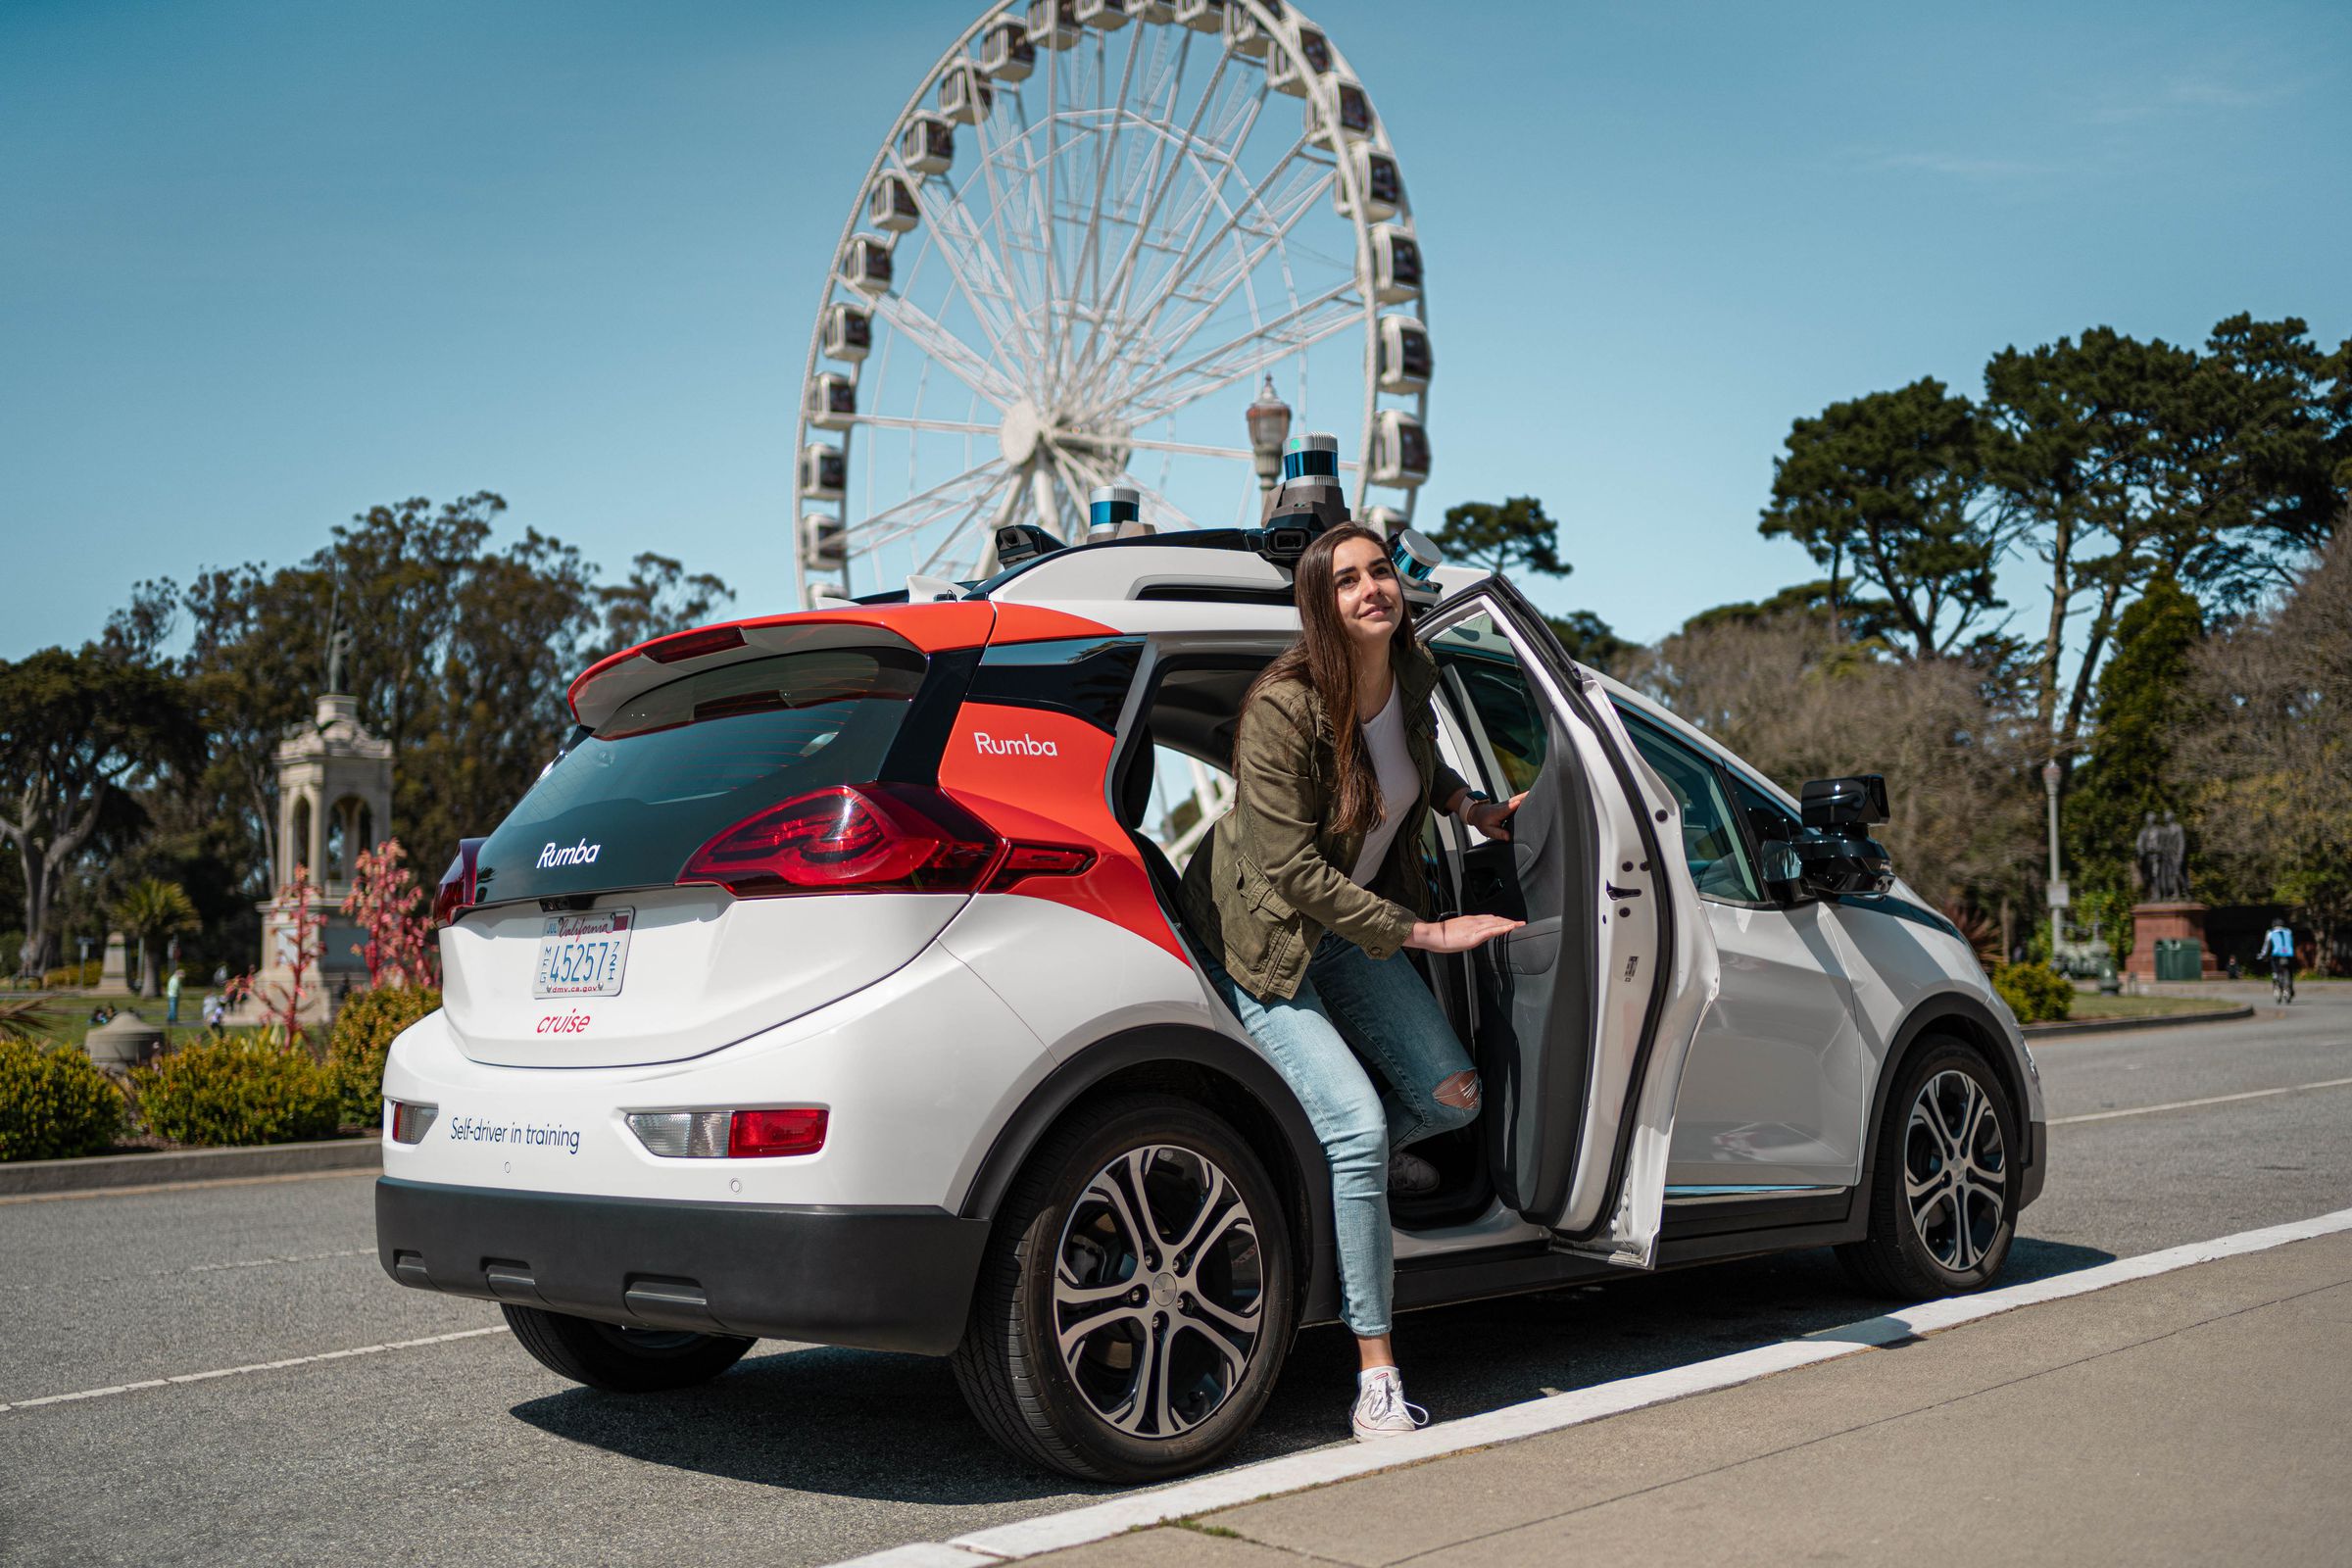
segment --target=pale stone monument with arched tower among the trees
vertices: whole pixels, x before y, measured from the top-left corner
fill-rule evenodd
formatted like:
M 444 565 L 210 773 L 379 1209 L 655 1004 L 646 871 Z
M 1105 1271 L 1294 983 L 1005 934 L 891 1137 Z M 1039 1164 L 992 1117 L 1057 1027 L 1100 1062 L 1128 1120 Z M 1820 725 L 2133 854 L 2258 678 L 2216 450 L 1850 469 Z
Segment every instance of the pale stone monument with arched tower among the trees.
M 350 628 L 327 637 L 327 691 L 308 724 L 296 726 L 278 745 L 278 865 L 275 886 L 294 882 L 296 867 L 308 867 L 310 971 L 303 976 L 301 1018 L 325 1023 L 343 994 L 367 978 L 367 964 L 353 952 L 360 929 L 341 907 L 350 896 L 350 877 L 362 849 L 374 849 L 393 835 L 393 743 L 360 724 L 360 698 L 336 691 L 343 684 L 343 658 L 350 654 Z M 294 945 L 303 907 L 275 896 L 261 905 L 261 969 L 254 973 L 254 997 L 233 1023 L 261 1023 L 282 1009 L 294 987 Z

